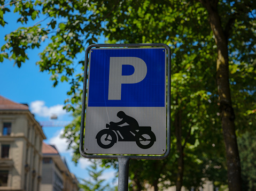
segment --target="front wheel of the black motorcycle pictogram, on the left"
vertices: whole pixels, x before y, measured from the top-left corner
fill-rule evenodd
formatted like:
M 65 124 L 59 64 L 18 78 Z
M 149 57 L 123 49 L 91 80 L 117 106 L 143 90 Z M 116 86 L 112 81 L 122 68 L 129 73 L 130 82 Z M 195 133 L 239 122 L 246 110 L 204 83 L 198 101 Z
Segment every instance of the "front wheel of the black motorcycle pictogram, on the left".
M 96 139 L 98 145 L 102 148 L 110 148 L 117 143 L 117 136 L 112 130 L 109 129 L 99 131 Z

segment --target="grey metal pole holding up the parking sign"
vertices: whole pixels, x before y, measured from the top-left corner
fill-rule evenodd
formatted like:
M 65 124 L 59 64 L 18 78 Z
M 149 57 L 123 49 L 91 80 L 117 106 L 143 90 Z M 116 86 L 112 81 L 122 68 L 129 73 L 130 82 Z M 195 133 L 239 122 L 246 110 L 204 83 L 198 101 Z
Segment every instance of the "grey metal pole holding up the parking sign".
M 128 191 L 129 156 L 118 157 L 118 191 Z

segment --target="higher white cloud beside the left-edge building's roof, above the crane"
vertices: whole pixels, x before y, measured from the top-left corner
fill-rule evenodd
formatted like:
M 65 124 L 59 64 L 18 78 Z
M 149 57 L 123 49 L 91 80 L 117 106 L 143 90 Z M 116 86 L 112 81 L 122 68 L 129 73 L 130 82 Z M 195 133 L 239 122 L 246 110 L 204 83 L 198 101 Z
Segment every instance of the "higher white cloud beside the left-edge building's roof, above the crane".
M 45 106 L 45 102 L 41 100 L 37 100 L 30 103 L 30 110 L 32 113 L 39 115 L 40 117 L 51 117 L 51 115 L 55 114 L 65 115 L 67 114 L 66 110 L 63 109 L 64 105 L 53 105 L 51 107 Z

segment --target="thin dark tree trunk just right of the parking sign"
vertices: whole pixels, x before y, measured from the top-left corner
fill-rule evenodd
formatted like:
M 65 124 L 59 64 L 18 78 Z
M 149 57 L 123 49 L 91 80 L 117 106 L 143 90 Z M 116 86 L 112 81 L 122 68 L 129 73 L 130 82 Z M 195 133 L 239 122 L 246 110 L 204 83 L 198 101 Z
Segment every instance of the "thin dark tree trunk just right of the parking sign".
M 176 144 L 177 150 L 179 152 L 178 169 L 177 169 L 177 179 L 176 179 L 176 191 L 181 191 L 182 182 L 183 182 L 183 171 L 184 171 L 184 161 L 183 161 L 183 147 L 181 142 L 181 110 L 178 110 L 175 115 L 175 135 L 176 135 Z

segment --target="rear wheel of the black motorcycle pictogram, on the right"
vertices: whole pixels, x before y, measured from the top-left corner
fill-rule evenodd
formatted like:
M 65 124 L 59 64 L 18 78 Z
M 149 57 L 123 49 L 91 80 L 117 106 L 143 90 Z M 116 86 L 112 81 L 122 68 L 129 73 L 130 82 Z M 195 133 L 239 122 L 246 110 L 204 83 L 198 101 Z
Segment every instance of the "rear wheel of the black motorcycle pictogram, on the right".
M 138 134 L 135 136 L 136 144 L 143 149 L 150 148 L 154 142 L 156 137 L 152 131 L 149 132 L 138 132 Z

